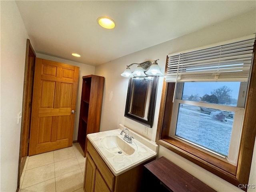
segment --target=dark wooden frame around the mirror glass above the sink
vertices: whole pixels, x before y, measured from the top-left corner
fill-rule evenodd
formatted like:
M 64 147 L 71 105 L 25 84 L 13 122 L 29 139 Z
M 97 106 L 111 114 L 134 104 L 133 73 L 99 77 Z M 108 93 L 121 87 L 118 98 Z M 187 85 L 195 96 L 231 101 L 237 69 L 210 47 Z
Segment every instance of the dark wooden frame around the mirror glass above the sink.
M 153 120 L 154 120 L 155 106 L 156 106 L 156 90 L 157 90 L 157 85 L 158 85 L 158 79 L 159 79 L 159 76 L 153 76 L 152 88 L 151 88 L 151 92 L 150 92 L 150 102 L 149 102 L 149 107 L 148 107 L 148 120 L 145 120 L 144 118 L 141 118 L 139 116 L 129 113 L 131 97 L 132 97 L 132 80 L 133 80 L 133 78 L 129 78 L 127 98 L 126 98 L 126 107 L 125 107 L 125 112 L 124 112 L 125 117 L 152 128 Z

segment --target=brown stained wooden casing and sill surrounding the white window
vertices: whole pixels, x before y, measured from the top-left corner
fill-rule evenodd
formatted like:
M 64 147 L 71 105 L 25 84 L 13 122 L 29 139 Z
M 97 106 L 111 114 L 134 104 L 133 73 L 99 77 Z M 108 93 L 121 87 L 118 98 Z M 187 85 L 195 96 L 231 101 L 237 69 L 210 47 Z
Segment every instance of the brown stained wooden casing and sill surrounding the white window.
M 180 142 L 169 136 L 170 123 L 172 120 L 172 98 L 174 96 L 175 82 L 163 82 L 158 127 L 156 132 L 156 143 L 164 146 L 168 150 L 186 158 L 187 160 L 201 166 L 205 170 L 230 182 L 235 186 L 242 186 L 242 190 L 247 191 L 252 155 L 256 137 L 256 118 L 254 117 L 256 108 L 256 41 L 254 42 L 253 60 L 250 82 L 248 82 L 248 93 L 244 111 L 244 121 L 238 152 L 237 165 L 234 166 L 224 162 L 214 156 L 202 152 L 188 144 Z M 166 57 L 167 71 L 168 56 Z

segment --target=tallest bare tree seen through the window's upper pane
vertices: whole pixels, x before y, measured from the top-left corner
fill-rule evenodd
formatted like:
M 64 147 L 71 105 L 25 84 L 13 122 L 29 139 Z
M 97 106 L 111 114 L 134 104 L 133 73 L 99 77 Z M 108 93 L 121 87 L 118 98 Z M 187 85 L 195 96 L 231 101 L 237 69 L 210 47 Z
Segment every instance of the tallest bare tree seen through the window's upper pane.
M 211 94 L 217 96 L 219 104 L 229 104 L 232 91 L 232 89 L 224 85 L 222 87 L 212 90 Z

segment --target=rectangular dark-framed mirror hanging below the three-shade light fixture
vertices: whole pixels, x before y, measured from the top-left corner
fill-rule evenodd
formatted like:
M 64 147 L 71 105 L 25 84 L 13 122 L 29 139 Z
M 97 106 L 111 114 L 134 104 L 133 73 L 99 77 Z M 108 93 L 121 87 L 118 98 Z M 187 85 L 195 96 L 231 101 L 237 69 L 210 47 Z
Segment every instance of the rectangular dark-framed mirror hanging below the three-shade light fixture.
M 152 128 L 158 78 L 147 76 L 129 79 L 125 117 Z

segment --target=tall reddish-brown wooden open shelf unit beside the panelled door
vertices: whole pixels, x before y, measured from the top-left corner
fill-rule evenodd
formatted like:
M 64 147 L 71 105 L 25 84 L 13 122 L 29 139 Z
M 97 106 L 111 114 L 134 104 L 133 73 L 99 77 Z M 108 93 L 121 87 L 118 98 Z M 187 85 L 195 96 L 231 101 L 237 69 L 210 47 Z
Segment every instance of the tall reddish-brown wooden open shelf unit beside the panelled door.
M 86 155 L 87 134 L 100 131 L 104 77 L 83 76 L 77 141 Z

